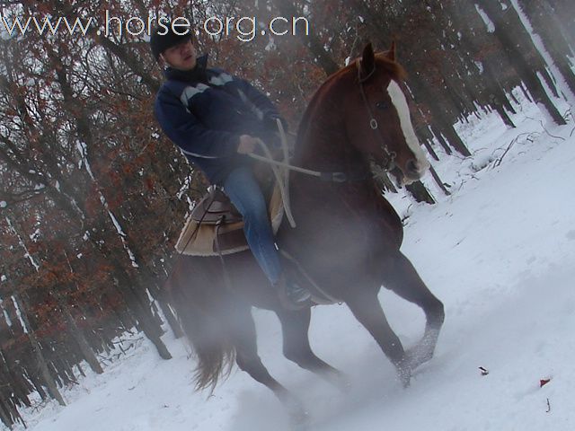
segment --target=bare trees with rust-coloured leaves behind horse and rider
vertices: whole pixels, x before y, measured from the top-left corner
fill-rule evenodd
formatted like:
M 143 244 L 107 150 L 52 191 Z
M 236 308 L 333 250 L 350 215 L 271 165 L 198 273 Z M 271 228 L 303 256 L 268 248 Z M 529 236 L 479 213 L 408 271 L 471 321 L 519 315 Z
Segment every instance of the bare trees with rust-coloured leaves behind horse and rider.
M 181 334 L 164 282 L 174 242 L 207 187 L 153 112 L 163 80 L 146 34 L 102 34 L 107 14 L 305 17 L 309 32 L 244 41 L 203 31 L 208 65 L 241 76 L 276 102 L 289 128 L 315 89 L 394 41 L 407 71 L 411 119 L 429 161 L 472 156 L 454 125 L 496 112 L 514 128 L 514 91 L 565 124 L 553 98 L 575 93 L 571 0 L 44 0 L 0 1 L 0 419 L 22 422 L 34 396 L 60 390 L 105 361 L 125 334 Z M 18 17 L 92 18 L 85 34 L 8 31 Z M 109 16 L 109 15 L 108 15 Z M 146 18 L 144 18 L 146 17 Z M 211 20 L 214 22 L 214 20 Z M 535 36 L 536 37 L 535 37 Z M 385 193 L 435 205 L 452 187 L 436 172 Z

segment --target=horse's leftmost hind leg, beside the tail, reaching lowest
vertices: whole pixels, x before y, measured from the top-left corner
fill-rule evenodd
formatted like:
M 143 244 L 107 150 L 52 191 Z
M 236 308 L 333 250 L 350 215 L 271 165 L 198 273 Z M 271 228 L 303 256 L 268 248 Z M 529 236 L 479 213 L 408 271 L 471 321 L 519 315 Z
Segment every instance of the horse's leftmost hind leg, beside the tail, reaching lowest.
M 290 420 L 293 423 L 297 425 L 304 424 L 307 420 L 307 413 L 301 402 L 274 379 L 261 363 L 260 356 L 258 356 L 257 335 L 251 310 L 248 308 L 245 312 L 242 312 L 236 323 L 237 327 L 234 333 L 236 364 L 241 370 L 250 374 L 254 380 L 264 384 L 273 391 L 282 405 L 288 410 Z

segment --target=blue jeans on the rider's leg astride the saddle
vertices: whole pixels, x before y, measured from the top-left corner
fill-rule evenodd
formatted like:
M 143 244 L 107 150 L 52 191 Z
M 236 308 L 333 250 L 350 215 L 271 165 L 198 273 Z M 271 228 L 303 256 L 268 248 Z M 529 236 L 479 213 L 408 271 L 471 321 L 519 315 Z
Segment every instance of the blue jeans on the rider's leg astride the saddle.
M 230 172 L 224 191 L 243 216 L 243 233 L 261 269 L 275 284 L 281 274 L 279 252 L 274 242 L 270 217 L 260 184 L 250 167 Z

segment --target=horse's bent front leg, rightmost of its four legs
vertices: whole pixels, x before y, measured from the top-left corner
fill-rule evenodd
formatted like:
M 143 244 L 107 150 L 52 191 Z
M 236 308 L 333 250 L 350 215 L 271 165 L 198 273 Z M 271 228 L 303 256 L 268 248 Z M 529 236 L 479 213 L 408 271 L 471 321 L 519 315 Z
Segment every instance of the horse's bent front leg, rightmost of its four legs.
M 411 261 L 402 252 L 399 252 L 390 268 L 392 269 L 385 271 L 384 286 L 403 299 L 416 303 L 425 312 L 426 325 L 423 338 L 408 352 L 411 367 L 415 368 L 433 356 L 439 330 L 445 319 L 443 303 L 429 291 Z

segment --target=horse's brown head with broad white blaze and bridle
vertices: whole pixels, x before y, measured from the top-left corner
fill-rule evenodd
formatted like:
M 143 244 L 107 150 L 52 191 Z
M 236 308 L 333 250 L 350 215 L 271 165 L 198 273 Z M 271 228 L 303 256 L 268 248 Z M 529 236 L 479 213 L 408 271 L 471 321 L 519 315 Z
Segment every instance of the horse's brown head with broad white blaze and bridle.
M 419 180 L 429 162 L 411 125 L 405 72 L 395 63 L 395 44 L 377 54 L 367 44 L 350 73 L 355 73 L 354 87 L 344 107 L 349 140 L 385 170 L 398 168 L 403 183 Z

